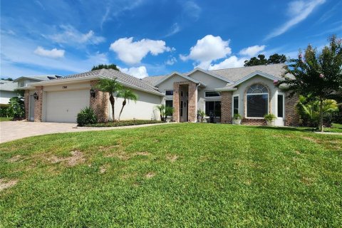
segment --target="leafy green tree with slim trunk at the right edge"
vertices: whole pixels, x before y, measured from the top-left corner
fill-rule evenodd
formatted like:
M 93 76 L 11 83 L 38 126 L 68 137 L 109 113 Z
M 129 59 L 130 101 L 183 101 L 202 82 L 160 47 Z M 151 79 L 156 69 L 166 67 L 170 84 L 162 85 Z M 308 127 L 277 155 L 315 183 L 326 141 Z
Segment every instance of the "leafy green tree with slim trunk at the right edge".
M 275 81 L 276 86 L 286 85 L 284 90 L 290 95 L 304 95 L 311 100 L 319 100 L 319 128 L 323 132 L 324 100 L 342 90 L 342 44 L 335 35 L 328 38 L 329 46 L 318 53 L 309 45 L 304 56 L 289 60 L 284 79 Z M 288 77 L 289 73 L 294 77 Z

